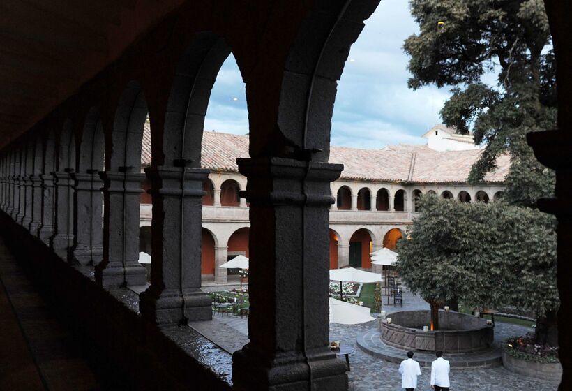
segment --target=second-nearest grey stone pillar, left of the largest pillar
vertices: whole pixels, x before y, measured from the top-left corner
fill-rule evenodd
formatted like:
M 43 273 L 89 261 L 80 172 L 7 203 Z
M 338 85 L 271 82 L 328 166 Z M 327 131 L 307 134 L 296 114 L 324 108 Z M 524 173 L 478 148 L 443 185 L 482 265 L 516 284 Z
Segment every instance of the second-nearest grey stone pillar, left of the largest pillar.
M 144 318 L 160 325 L 212 318 L 201 287 L 202 182 L 209 170 L 146 168 L 153 196 L 151 286 L 140 295 Z

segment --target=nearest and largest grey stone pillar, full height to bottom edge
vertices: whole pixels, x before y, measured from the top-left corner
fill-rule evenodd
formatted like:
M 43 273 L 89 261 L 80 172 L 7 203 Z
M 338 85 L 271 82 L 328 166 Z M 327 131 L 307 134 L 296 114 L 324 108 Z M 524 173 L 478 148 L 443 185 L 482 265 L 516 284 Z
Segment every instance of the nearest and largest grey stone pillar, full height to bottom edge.
M 347 390 L 330 349 L 330 183 L 342 165 L 238 159 L 248 177 L 250 343 L 233 355 L 235 390 Z M 260 332 L 264 330 L 264 332 Z

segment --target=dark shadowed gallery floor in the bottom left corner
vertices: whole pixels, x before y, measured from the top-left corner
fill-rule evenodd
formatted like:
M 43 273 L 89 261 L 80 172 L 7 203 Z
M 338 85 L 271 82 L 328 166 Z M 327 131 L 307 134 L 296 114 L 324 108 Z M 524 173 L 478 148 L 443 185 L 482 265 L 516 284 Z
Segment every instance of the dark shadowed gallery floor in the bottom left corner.
M 107 363 L 86 355 L 89 341 L 77 338 L 64 316 L 0 237 L 0 390 L 130 390 L 124 376 L 112 378 Z

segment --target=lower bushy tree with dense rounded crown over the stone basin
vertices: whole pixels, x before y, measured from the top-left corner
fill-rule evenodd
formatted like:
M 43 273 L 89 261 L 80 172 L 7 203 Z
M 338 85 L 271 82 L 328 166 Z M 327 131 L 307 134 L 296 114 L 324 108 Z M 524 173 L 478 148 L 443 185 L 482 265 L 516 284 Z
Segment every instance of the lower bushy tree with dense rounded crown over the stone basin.
M 455 300 L 474 307 L 515 305 L 538 318 L 536 339 L 557 346 L 555 219 L 504 202 L 473 204 L 423 195 L 421 214 L 398 246 L 396 267 L 437 310 Z

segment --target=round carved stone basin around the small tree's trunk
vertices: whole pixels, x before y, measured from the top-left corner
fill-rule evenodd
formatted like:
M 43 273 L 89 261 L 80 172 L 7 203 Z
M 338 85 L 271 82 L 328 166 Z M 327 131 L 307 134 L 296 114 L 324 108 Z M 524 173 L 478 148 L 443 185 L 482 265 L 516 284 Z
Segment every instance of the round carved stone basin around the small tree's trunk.
M 494 327 L 486 319 L 466 313 L 440 310 L 439 330 L 427 332 L 423 326 L 430 325 L 431 311 L 400 311 L 386 318 L 380 320 L 380 338 L 405 350 L 467 353 L 488 348 L 495 338 Z

